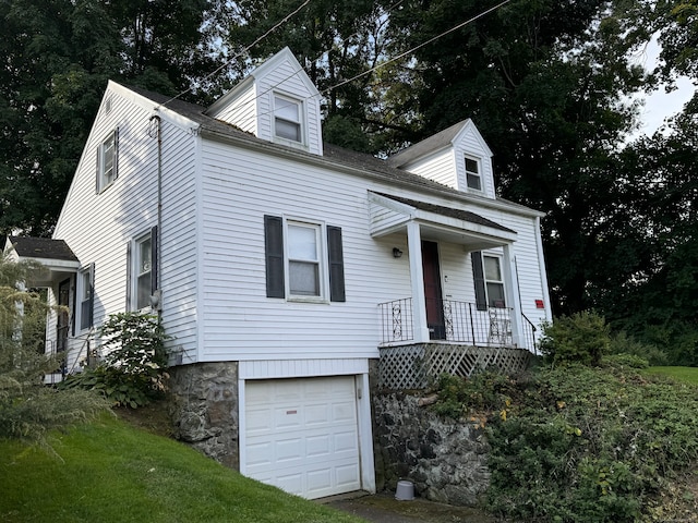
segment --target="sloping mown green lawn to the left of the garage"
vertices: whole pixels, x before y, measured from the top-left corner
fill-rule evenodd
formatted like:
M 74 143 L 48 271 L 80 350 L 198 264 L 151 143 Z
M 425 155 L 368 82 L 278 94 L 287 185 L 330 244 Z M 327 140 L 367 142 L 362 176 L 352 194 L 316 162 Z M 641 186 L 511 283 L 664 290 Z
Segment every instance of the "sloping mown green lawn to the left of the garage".
M 0 521 L 363 521 L 245 478 L 110 415 L 50 442 L 58 455 L 0 441 Z

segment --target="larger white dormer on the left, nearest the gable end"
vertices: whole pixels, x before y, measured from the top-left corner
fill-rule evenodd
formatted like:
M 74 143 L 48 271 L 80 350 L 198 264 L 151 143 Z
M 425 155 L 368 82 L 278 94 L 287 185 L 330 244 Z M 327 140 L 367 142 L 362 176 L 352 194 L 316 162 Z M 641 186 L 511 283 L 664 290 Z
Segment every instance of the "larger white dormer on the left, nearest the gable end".
M 252 71 L 206 114 L 257 138 L 323 154 L 320 93 L 288 47 Z

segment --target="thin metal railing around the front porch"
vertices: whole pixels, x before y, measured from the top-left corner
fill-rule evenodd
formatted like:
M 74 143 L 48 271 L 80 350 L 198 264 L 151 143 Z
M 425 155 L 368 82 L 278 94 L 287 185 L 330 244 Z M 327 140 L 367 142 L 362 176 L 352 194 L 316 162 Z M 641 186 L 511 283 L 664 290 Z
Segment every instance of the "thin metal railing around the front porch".
M 535 350 L 535 326 L 524 315 L 518 321 L 519 338 L 524 346 L 515 342 L 512 308 L 488 307 L 483 311 L 474 303 L 455 300 L 443 300 L 441 304 L 428 303 L 428 308 L 431 309 L 432 316 L 437 316 L 436 321 L 430 326 L 430 338 L 433 341 Z M 381 303 L 378 309 L 383 344 L 414 340 L 414 311 L 411 297 Z

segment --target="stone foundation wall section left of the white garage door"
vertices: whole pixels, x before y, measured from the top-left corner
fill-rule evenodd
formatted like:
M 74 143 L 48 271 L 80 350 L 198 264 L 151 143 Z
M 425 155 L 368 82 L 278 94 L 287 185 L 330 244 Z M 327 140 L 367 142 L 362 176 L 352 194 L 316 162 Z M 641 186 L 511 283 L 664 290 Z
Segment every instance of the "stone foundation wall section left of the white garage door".
M 240 470 L 238 363 L 182 365 L 169 373 L 173 436 Z

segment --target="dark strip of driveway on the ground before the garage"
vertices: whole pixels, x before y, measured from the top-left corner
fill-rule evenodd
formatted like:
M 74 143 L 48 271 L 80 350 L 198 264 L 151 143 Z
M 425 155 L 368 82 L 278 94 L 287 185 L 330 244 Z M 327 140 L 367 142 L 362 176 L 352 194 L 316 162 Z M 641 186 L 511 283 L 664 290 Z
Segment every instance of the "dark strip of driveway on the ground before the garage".
M 452 507 L 420 498 L 398 501 L 389 492 L 338 496 L 325 504 L 375 523 L 494 523 L 496 520 L 468 507 Z

